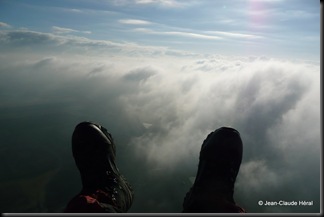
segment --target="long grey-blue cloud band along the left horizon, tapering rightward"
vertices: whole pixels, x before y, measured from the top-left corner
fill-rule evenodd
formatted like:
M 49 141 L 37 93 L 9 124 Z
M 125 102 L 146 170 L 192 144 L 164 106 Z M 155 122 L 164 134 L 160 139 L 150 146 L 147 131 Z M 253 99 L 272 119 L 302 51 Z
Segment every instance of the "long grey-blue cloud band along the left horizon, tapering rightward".
M 166 47 L 144 46 L 136 43 L 117 43 L 109 40 L 91 40 L 85 37 L 69 34 L 51 34 L 30 30 L 0 31 L 1 45 L 11 52 L 14 49 L 37 48 L 38 52 L 77 52 L 134 56 L 134 55 L 159 55 L 167 52 Z M 69 48 L 69 49 L 67 49 Z M 50 50 L 50 51 L 48 51 Z M 168 50 L 174 55 L 182 55 L 182 51 Z

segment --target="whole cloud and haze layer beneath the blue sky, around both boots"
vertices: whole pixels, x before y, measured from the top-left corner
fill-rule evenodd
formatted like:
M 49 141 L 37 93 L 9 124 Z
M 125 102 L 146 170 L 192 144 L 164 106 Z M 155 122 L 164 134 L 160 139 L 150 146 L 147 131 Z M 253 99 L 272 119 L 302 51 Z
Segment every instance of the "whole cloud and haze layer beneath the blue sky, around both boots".
M 173 51 L 166 48 L 151 55 L 157 47 L 28 31 L 1 34 L 1 45 L 34 48 L 8 47 L 0 55 L 3 153 L 14 156 L 23 145 L 30 147 L 26 155 L 39 150 L 38 162 L 57 162 L 44 184 L 45 199 L 29 210 L 59 212 L 80 190 L 70 138 L 78 122 L 93 120 L 116 141 L 117 164 L 136 194 L 130 212 L 181 212 L 200 146 L 221 126 L 236 128 L 244 143 L 235 191 L 239 205 L 250 213 L 319 212 L 319 64 L 168 55 Z M 39 51 L 39 44 L 59 50 Z M 115 50 L 105 53 L 102 46 Z M 72 47 L 87 53 L 67 52 Z M 11 159 L 16 158 L 2 159 L 1 180 L 19 177 L 19 168 L 25 168 L 22 182 L 26 174 L 53 170 L 49 163 L 22 167 L 28 162 Z M 11 189 L 5 195 L 26 198 L 25 191 Z M 259 200 L 313 200 L 314 206 L 262 207 Z M 28 210 L 12 204 L 1 210 Z

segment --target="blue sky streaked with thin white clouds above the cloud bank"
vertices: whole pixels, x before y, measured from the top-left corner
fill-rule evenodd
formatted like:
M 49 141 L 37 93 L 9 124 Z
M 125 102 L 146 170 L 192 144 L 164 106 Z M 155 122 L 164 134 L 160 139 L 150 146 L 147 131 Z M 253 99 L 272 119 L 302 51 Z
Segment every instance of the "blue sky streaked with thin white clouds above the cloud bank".
M 0 2 L 1 30 L 28 29 L 202 54 L 319 60 L 318 0 Z

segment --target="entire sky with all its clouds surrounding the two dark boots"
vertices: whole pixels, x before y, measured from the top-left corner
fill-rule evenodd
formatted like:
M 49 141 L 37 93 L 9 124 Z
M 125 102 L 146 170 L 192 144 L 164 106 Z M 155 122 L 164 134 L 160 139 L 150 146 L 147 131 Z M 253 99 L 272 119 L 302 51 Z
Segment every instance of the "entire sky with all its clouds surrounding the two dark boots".
M 1 212 L 62 212 L 71 135 L 105 126 L 130 213 L 179 213 L 203 140 L 237 129 L 249 213 L 321 212 L 317 0 L 0 0 Z M 19 199 L 17 199 L 19 198 Z M 260 201 L 312 201 L 260 206 Z

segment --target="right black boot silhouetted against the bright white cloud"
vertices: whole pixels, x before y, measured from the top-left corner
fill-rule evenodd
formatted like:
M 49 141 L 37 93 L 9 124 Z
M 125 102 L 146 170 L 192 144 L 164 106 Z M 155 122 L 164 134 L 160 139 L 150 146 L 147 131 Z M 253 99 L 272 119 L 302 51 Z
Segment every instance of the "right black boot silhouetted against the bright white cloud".
M 221 127 L 211 132 L 201 146 L 196 179 L 185 196 L 183 212 L 243 212 L 233 199 L 242 153 L 237 130 Z

